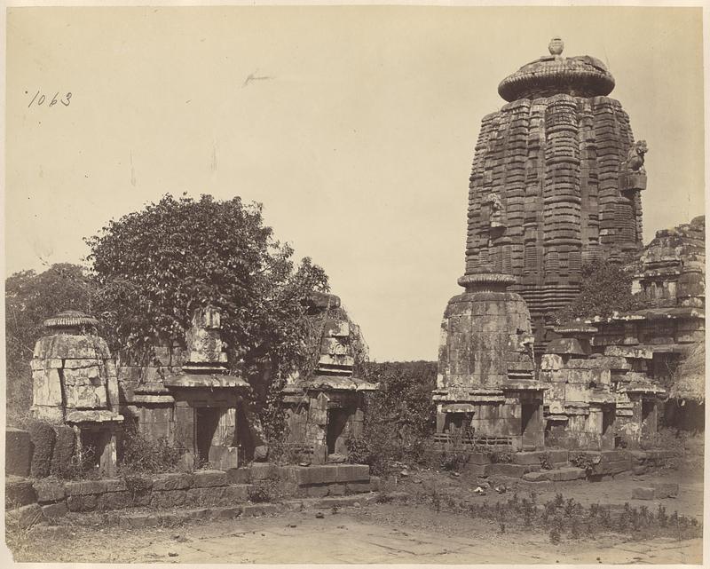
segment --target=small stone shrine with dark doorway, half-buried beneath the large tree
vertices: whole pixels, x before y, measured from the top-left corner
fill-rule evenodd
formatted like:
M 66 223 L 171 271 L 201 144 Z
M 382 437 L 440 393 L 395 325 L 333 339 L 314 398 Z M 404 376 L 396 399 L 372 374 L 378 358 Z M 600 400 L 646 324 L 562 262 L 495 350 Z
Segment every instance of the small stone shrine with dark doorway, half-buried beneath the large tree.
M 238 466 L 239 447 L 251 454 L 254 445 L 244 418 L 249 384 L 229 374 L 220 330 L 217 309 L 198 308 L 184 348 L 157 347 L 154 365 L 122 366 L 119 373 L 126 415 L 141 432 L 185 448 L 185 462 L 226 469 Z

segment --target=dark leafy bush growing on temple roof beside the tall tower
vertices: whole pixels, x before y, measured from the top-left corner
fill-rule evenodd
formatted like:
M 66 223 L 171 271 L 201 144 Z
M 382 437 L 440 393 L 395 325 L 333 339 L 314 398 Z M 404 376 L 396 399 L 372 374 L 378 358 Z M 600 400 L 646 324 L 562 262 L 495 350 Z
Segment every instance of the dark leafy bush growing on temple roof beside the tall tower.
M 642 308 L 631 293 L 633 275 L 626 267 L 600 259 L 582 265 L 580 294 L 555 315 L 557 322 L 603 318 L 613 312 L 629 312 Z

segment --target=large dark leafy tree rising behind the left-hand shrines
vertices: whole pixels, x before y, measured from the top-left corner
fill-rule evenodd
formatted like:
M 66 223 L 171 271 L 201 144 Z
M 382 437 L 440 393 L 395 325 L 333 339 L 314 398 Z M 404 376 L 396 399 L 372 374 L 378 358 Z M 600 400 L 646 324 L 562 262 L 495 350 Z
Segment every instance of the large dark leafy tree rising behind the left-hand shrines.
M 304 301 L 327 290 L 327 275 L 307 257 L 295 265 L 261 205 L 166 194 L 86 241 L 114 350 L 141 354 L 182 340 L 193 310 L 211 304 L 233 371 L 247 375 L 262 405 L 304 360 Z

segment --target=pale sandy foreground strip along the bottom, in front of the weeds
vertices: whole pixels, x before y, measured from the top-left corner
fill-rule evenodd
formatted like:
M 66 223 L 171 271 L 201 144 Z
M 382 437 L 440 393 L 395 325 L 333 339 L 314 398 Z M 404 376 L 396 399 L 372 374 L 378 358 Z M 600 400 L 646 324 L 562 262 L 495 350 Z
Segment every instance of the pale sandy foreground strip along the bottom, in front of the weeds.
M 484 520 L 422 506 L 376 504 L 336 513 L 289 513 L 120 531 L 76 528 L 35 543 L 17 561 L 83 563 L 700 564 L 702 540 L 602 536 L 552 545 L 545 533 L 498 532 Z

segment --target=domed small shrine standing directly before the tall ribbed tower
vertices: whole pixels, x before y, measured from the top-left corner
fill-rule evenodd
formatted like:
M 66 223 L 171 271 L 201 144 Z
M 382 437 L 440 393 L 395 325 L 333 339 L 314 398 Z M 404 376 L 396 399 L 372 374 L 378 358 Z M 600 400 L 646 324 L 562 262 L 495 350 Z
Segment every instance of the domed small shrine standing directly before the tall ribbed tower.
M 446 306 L 441 325 L 437 435 L 513 450 L 544 447 L 543 386 L 534 381 L 533 334 L 511 275 L 467 273 L 466 292 Z

